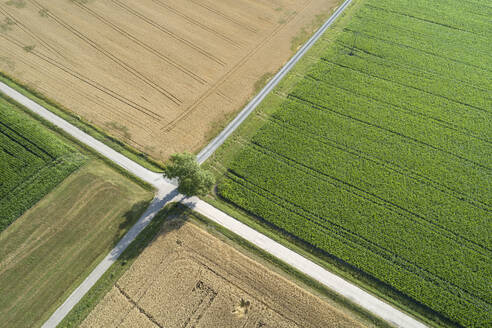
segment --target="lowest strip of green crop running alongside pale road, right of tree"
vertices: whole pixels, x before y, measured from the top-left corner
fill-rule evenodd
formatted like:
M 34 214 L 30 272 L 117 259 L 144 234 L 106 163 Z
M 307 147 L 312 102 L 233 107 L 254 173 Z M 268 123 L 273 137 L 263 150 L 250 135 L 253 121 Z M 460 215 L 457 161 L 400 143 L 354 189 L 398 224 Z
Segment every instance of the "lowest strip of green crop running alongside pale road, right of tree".
M 489 304 L 480 300 L 467 301 L 464 295 L 460 295 L 460 289 L 455 289 L 453 293 L 442 281 L 437 284 L 433 280 L 425 279 L 414 274 L 407 267 L 395 265 L 395 261 L 387 257 L 370 252 L 367 247 L 341 238 L 337 233 L 325 232 L 320 225 L 287 209 L 287 204 L 281 206 L 271 198 L 262 196 L 258 190 L 253 191 L 233 179 L 227 179 L 220 185 L 219 193 L 222 197 L 262 217 L 277 228 L 389 284 L 418 302 L 444 313 L 456 322 L 470 326 L 477 323 L 485 325 L 490 323 L 490 318 L 486 314 L 490 311 Z M 331 199 L 326 198 L 323 202 L 330 203 Z M 362 225 L 367 227 L 365 224 Z M 433 247 L 439 246 L 433 245 Z M 441 256 L 441 254 L 438 255 L 438 257 Z M 393 257 L 396 260 L 400 258 L 400 255 L 394 253 Z

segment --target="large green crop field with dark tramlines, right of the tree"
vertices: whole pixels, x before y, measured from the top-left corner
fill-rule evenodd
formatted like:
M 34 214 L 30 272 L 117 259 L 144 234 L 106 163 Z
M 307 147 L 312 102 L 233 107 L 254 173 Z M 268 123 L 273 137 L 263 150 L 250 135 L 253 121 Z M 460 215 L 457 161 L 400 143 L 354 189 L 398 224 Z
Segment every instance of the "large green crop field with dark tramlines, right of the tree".
M 219 195 L 444 322 L 491 327 L 491 17 L 489 1 L 361 1 Z

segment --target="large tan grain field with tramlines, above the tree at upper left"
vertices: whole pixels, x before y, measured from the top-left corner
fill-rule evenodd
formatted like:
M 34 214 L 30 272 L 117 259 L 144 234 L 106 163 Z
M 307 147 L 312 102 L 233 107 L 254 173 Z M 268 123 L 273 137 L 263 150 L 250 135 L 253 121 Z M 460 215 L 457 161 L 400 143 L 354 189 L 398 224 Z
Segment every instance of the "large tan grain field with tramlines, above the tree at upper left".
M 200 149 L 336 2 L 2 0 L 0 71 L 166 159 Z

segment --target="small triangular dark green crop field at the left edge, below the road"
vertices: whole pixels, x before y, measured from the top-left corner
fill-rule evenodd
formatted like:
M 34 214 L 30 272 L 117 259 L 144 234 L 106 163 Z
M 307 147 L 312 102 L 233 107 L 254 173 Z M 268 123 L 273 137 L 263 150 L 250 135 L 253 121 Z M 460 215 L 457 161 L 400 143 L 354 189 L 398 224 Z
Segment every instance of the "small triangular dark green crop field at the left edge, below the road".
M 0 97 L 0 232 L 85 161 L 78 150 Z

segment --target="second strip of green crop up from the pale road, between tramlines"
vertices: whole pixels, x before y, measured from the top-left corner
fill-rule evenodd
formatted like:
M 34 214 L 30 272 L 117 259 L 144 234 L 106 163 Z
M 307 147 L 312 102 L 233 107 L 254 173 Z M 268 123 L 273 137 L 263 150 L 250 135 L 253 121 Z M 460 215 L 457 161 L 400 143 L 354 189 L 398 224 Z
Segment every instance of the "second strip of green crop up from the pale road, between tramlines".
M 297 141 L 298 139 L 284 139 L 285 143 L 292 145 Z M 323 161 L 330 155 L 315 153 L 313 157 L 319 157 L 318 161 Z M 483 284 L 475 283 L 484 279 L 484 272 L 492 273 L 492 268 L 487 268 L 484 261 L 490 251 L 478 252 L 465 247 L 461 238 L 446 237 L 444 229 L 398 210 L 381 197 L 364 192 L 359 186 L 354 187 L 350 181 L 343 180 L 339 175 L 319 173 L 293 161 L 279 160 L 280 158 L 272 152 L 261 152 L 249 147 L 230 169 L 248 182 L 259 185 L 306 211 L 336 222 L 402 258 L 412 259 L 429 272 L 438 275 L 445 269 L 447 280 L 466 286 L 466 290 L 475 291 L 477 295 L 492 300 L 492 293 Z M 351 167 L 352 162 L 340 162 L 340 165 L 343 164 L 347 171 L 353 170 L 353 175 L 359 173 L 357 168 L 354 170 Z M 268 179 L 273 169 L 276 172 L 275 179 Z M 395 193 L 405 191 L 408 192 L 406 186 L 394 188 Z M 392 224 L 395 221 L 398 224 Z M 368 222 L 370 225 L 367 225 Z M 431 245 L 435 248 L 429 249 Z M 459 264 L 443 262 L 442 257 L 436 256 L 434 252 L 444 258 L 452 255 Z M 475 272 L 475 268 L 480 268 L 479 272 Z

